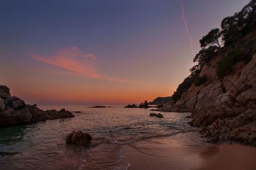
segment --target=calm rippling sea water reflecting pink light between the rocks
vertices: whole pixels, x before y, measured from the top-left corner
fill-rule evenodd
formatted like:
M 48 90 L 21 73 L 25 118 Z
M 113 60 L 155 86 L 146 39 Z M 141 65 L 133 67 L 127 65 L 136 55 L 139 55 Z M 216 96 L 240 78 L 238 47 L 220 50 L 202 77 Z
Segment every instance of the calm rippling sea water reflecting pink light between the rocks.
M 42 109 L 81 111 L 76 117 L 49 120 L 20 127 L 0 129 L 0 169 L 127 169 L 122 146 L 138 141 L 183 134 L 185 145 L 202 143 L 196 128 L 188 125 L 189 113 L 163 112 L 152 118 L 149 109 L 124 106 L 40 106 Z M 93 147 L 69 146 L 65 137 L 83 130 L 93 137 Z

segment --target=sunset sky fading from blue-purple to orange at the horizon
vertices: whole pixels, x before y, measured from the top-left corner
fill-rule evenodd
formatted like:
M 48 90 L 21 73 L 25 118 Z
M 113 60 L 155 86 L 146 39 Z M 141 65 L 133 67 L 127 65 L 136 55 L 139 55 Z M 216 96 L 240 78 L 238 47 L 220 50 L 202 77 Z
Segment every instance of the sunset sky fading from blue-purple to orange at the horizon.
M 199 40 L 248 0 L 0 0 L 0 84 L 29 104 L 172 95 Z

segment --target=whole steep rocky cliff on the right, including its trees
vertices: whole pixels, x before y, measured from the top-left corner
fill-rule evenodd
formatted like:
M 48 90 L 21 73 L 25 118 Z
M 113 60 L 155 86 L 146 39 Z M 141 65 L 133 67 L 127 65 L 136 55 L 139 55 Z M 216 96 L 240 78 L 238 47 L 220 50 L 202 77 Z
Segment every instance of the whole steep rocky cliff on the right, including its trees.
M 221 31 L 213 29 L 200 40 L 202 50 L 194 58 L 198 65 L 173 94 L 175 101 L 158 110 L 191 112 L 190 124 L 200 127 L 211 142 L 256 146 L 255 27 L 253 0 L 225 18 Z M 220 36 L 223 47 L 212 46 Z

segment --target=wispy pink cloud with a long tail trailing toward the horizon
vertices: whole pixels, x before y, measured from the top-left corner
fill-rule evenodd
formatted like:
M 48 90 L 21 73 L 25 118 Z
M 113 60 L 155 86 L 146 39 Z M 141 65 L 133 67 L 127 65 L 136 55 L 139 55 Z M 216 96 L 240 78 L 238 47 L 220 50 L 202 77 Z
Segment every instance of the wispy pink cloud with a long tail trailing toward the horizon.
M 140 84 L 140 85 L 167 88 L 166 86 L 159 86 L 156 84 L 130 81 L 130 80 L 122 79 L 118 77 L 102 75 L 95 68 L 95 62 L 97 62 L 97 57 L 93 54 L 82 54 L 79 47 L 76 47 L 76 46 L 70 49 L 58 50 L 56 54 L 51 56 L 44 56 L 41 54 L 32 54 L 32 57 L 38 61 L 42 61 L 49 65 L 57 66 L 58 68 L 62 68 L 63 70 L 65 70 L 65 71 L 46 70 L 47 72 L 74 75 L 79 77 L 89 77 L 91 79 L 102 79 L 105 81 L 127 82 L 131 84 Z

